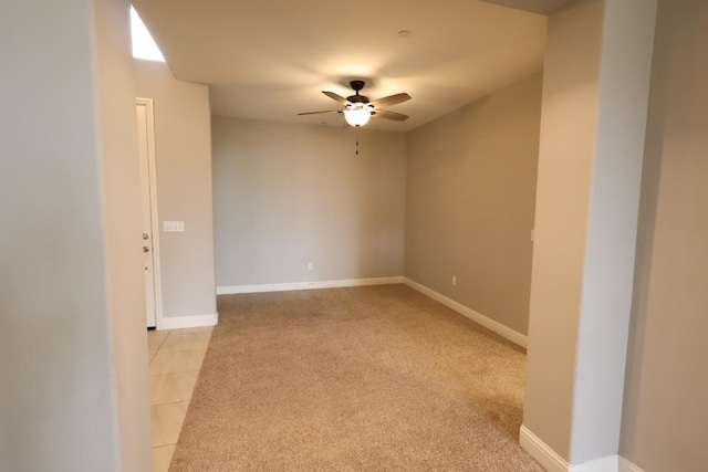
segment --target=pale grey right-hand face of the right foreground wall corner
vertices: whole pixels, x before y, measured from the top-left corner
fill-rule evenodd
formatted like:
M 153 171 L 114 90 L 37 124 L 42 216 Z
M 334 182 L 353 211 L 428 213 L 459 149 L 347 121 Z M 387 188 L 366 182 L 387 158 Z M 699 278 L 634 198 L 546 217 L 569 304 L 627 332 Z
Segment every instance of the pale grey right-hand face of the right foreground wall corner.
M 632 313 L 656 0 L 606 0 L 571 463 L 614 457 Z

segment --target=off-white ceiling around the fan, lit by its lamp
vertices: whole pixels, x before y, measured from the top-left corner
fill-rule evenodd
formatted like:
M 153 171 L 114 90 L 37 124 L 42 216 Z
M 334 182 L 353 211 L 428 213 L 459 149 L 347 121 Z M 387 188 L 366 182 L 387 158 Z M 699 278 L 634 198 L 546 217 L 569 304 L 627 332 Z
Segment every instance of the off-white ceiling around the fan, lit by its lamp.
M 387 109 L 409 130 L 542 69 L 545 17 L 477 0 L 134 0 L 180 81 L 211 86 L 218 116 L 341 126 L 321 91 L 371 99 L 407 92 Z M 412 31 L 400 38 L 400 30 Z

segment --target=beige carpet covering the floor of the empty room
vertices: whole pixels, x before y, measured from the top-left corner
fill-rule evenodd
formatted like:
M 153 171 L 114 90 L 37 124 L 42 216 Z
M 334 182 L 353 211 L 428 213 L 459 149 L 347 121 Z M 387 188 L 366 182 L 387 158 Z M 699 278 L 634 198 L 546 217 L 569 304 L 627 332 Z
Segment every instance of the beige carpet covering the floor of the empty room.
M 170 471 L 541 471 L 525 355 L 404 285 L 219 296 Z

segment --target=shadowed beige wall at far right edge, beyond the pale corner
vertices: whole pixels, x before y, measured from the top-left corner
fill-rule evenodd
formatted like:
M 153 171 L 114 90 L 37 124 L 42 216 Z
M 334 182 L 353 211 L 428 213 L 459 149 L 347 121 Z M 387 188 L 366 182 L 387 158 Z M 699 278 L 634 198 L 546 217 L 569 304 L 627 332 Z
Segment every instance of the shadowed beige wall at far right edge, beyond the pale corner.
M 660 0 L 621 453 L 706 469 L 708 3 Z

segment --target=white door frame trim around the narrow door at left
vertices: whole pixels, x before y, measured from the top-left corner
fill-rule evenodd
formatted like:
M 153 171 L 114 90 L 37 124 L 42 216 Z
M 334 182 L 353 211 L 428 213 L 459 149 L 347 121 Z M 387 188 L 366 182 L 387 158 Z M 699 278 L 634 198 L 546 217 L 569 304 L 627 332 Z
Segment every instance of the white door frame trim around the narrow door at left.
M 147 174 L 149 179 L 150 231 L 153 242 L 153 281 L 155 290 L 155 329 L 163 328 L 163 277 L 159 251 L 159 218 L 157 209 L 157 167 L 155 165 L 155 114 L 153 98 L 137 97 L 135 105 L 145 106 L 147 126 Z M 142 191 L 142 189 L 140 189 Z

